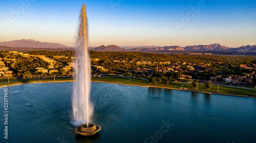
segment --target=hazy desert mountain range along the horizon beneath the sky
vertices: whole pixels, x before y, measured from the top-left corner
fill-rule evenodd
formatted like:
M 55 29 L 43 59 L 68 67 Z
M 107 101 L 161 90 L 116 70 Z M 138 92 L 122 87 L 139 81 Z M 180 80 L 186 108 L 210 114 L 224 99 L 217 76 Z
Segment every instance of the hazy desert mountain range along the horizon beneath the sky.
M 48 42 L 39 42 L 34 41 L 32 39 L 21 39 L 21 40 L 14 40 L 9 42 L 0 42 L 0 46 L 7 46 L 7 47 L 15 47 L 17 48 L 44 48 L 44 49 L 70 49 L 72 47 L 68 47 L 59 43 L 48 43 Z M 3 47 L 6 49 L 7 47 Z M 161 51 L 238 51 L 238 52 L 251 52 L 256 51 L 256 45 L 247 45 L 241 46 L 238 48 L 232 48 L 227 46 L 222 46 L 220 44 L 210 44 L 210 45 L 195 45 L 195 46 L 123 46 L 119 47 L 116 45 L 109 45 L 109 46 L 98 46 L 98 47 L 89 47 L 89 50 L 94 51 L 141 51 L 141 52 L 161 52 Z

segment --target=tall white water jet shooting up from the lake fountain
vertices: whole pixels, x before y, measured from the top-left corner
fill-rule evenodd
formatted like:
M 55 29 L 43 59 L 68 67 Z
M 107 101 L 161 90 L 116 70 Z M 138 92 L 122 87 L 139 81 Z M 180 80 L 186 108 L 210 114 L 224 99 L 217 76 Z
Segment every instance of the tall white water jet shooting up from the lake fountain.
M 93 106 L 90 102 L 91 90 L 91 61 L 87 48 L 88 24 L 86 6 L 83 4 L 80 14 L 80 29 L 78 46 L 76 48 L 76 58 L 74 66 L 74 91 L 72 97 L 73 124 L 80 125 L 91 121 Z

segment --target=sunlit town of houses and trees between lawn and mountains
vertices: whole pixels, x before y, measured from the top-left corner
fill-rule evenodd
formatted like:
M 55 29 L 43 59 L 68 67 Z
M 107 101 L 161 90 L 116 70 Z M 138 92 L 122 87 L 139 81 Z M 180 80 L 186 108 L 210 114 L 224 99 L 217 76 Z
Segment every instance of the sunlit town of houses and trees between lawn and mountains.
M 152 79 L 153 83 L 198 80 L 240 87 L 256 83 L 255 56 L 229 56 L 227 60 L 222 55 L 177 57 L 170 54 L 97 51 L 90 54 L 94 77 L 130 76 Z M 73 51 L 1 51 L 0 75 L 1 78 L 18 79 L 73 77 L 74 59 Z

